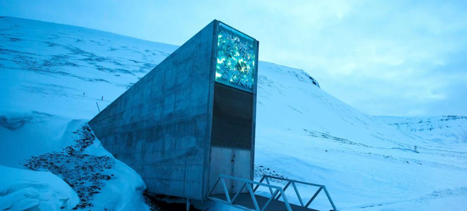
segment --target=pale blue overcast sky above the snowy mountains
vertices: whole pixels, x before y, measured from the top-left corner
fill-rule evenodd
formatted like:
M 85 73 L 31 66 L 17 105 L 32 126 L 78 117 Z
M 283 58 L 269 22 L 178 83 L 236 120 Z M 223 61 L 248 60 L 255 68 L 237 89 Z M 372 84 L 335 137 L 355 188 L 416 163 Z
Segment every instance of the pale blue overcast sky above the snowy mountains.
M 181 45 L 213 19 L 370 115 L 467 115 L 467 1 L 0 0 L 0 15 Z

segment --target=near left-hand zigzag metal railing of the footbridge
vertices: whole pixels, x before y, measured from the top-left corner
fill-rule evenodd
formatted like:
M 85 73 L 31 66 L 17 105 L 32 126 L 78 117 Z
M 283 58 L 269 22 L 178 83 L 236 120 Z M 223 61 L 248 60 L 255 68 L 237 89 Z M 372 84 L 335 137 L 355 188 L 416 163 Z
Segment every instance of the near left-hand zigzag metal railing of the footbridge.
M 232 198 L 230 198 L 230 194 L 229 194 L 229 191 L 227 189 L 227 185 L 225 184 L 225 179 L 238 181 L 238 182 L 243 182 L 242 188 L 240 188 L 237 191 L 237 193 L 234 195 L 234 197 L 232 197 Z M 223 200 L 221 198 L 217 198 L 217 197 L 212 196 L 212 192 L 214 191 L 214 189 L 216 188 L 216 186 L 219 183 L 222 185 L 222 190 L 223 190 L 223 192 L 225 194 L 226 200 Z M 253 185 L 256 185 L 256 187 L 254 189 L 252 188 Z M 256 198 L 254 196 L 255 195 L 254 192 L 256 191 L 256 189 L 259 186 L 265 186 L 265 187 L 268 187 L 271 190 L 271 197 L 269 197 L 268 201 L 262 207 L 259 206 L 258 201 L 256 200 Z M 219 176 L 219 179 L 214 184 L 211 192 L 209 192 L 208 198 L 211 199 L 211 200 L 214 200 L 214 201 L 220 201 L 222 203 L 229 204 L 230 206 L 233 206 L 233 207 L 245 210 L 245 211 L 251 211 L 252 208 L 246 208 L 246 207 L 234 204 L 235 199 L 237 199 L 237 196 L 243 191 L 243 189 L 245 187 L 247 188 L 248 193 L 251 196 L 251 200 L 253 201 L 253 206 L 254 206 L 255 211 L 265 211 L 272 200 L 277 200 L 279 198 L 282 198 L 287 211 L 292 211 L 292 208 L 290 207 L 290 204 L 289 204 L 289 201 L 287 200 L 287 197 L 285 197 L 284 190 L 282 189 L 282 187 L 276 186 L 276 185 L 271 185 L 271 184 L 264 184 L 264 183 L 260 183 L 260 182 L 255 182 L 255 181 L 251 181 L 251 180 L 247 180 L 247 179 L 243 179 L 243 178 L 232 177 L 232 176 L 223 175 L 223 174 L 221 174 Z

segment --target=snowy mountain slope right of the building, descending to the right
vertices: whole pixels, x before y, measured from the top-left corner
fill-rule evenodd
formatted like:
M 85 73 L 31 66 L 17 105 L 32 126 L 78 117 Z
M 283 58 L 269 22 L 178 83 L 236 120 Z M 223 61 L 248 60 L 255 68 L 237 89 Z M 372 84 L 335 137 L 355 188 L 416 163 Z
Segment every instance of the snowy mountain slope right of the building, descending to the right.
M 297 81 L 286 74 L 291 68 L 259 67 L 256 165 L 327 185 L 342 210 L 383 209 L 379 204 L 398 210 L 398 203 L 419 202 L 433 191 L 466 187 L 467 147 L 395 130 Z

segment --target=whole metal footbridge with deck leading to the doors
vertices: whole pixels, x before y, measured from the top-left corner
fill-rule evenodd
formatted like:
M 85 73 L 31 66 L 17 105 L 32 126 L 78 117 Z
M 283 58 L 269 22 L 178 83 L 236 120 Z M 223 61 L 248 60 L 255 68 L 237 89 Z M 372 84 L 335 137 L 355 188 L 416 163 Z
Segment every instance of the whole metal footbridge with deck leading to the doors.
M 232 194 L 227 190 L 225 180 L 235 181 L 240 184 L 243 183 L 243 186 L 235 194 Z M 285 182 L 286 185 L 271 185 L 272 180 Z M 311 196 L 310 200 L 303 202 L 303 198 L 297 188 L 298 184 L 318 187 L 318 190 L 313 194 L 313 196 Z M 223 194 L 212 194 L 214 188 L 216 188 L 217 185 L 221 185 L 224 192 Z M 295 196 L 297 196 L 299 201 L 298 204 L 290 203 L 284 193 L 285 190 L 290 186 L 292 186 L 295 190 Z M 255 194 L 259 187 L 265 187 L 266 189 L 269 189 L 271 195 L 262 196 Z M 268 175 L 264 175 L 259 182 L 255 182 L 243 178 L 221 174 L 216 184 L 213 186 L 213 189 L 209 193 L 208 198 L 245 211 L 316 211 L 309 208 L 309 206 L 321 191 L 326 193 L 326 196 L 328 197 L 330 205 L 333 209 L 331 211 L 337 211 L 325 185 L 317 185 Z

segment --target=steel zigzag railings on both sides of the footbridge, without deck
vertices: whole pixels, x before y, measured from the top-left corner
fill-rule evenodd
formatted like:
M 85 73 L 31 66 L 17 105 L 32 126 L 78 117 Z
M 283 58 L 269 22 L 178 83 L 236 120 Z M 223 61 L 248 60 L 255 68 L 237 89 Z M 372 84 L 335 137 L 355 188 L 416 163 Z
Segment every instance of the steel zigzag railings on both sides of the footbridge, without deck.
M 243 186 L 242 188 L 240 188 L 237 193 L 234 195 L 233 198 L 230 198 L 230 194 L 227 190 L 227 185 L 225 184 L 225 180 L 224 179 L 230 179 L 230 180 L 233 180 L 233 181 L 239 181 L 239 182 L 243 182 Z M 286 181 L 287 184 L 284 186 L 284 187 L 280 187 L 280 186 L 277 186 L 277 185 L 271 185 L 271 181 L 270 179 L 275 179 L 275 180 L 281 180 L 281 181 Z M 266 183 L 263 183 L 264 181 L 266 181 Z M 226 200 L 223 200 L 223 199 L 220 199 L 220 198 L 216 198 L 216 197 L 213 197 L 212 196 L 212 192 L 214 190 L 214 188 L 219 184 L 222 185 L 222 189 L 224 191 L 224 194 L 225 194 L 225 198 Z M 315 194 L 313 194 L 313 196 L 311 197 L 311 199 L 306 203 L 304 204 L 303 203 L 303 199 L 302 199 L 302 196 L 300 195 L 299 193 L 299 190 L 297 189 L 297 185 L 296 184 L 303 184 L 303 185 L 309 185 L 309 186 L 316 186 L 316 187 L 319 187 L 318 190 L 315 192 Z M 255 185 L 254 188 L 253 185 Z M 316 196 L 318 196 L 318 194 L 321 192 L 321 190 L 324 190 L 324 192 L 326 193 L 326 196 L 328 197 L 329 199 L 329 202 L 330 202 L 330 205 L 332 206 L 332 209 L 334 211 L 337 211 L 337 208 L 336 206 L 334 205 L 334 202 L 332 201 L 330 195 L 329 195 L 329 192 L 328 192 L 328 189 L 326 188 L 325 185 L 317 185 L 317 184 L 312 184 L 312 183 L 306 183 L 306 182 L 302 182 L 302 181 L 297 181 L 297 180 L 290 180 L 290 179 L 285 179 L 285 178 L 279 178 L 279 177 L 274 177 L 274 176 L 269 176 L 269 175 L 264 175 L 261 180 L 259 182 L 255 182 L 255 181 L 251 181 L 251 180 L 247 180 L 247 179 L 243 179 L 243 178 L 238 178 L 238 177 L 232 177 L 232 176 L 229 176 L 229 175 L 223 175 L 221 174 L 219 176 L 219 179 L 216 181 L 216 183 L 214 184 L 212 190 L 210 191 L 209 195 L 208 195 L 208 198 L 211 199 L 211 200 L 214 200 L 214 201 L 219 201 L 221 203 L 224 203 L 224 204 L 228 204 L 230 206 L 233 206 L 233 207 L 236 207 L 236 208 L 239 208 L 239 209 L 242 209 L 242 210 L 245 210 L 245 211 L 265 211 L 266 208 L 268 207 L 268 205 L 270 204 L 270 202 L 274 199 L 274 200 L 279 200 L 280 198 L 282 198 L 284 204 L 285 204 L 285 207 L 287 209 L 287 211 L 293 211 L 291 206 L 290 206 L 290 203 L 289 201 L 287 200 L 287 197 L 285 196 L 284 192 L 285 190 L 290 186 L 292 185 L 292 187 L 294 188 L 295 190 L 295 193 L 297 195 L 297 198 L 299 199 L 299 202 L 300 202 L 300 206 L 303 207 L 303 208 L 308 208 L 308 206 L 311 204 L 311 202 L 316 198 Z M 255 194 L 254 192 L 258 189 L 259 186 L 265 186 L 265 187 L 268 187 L 269 188 L 269 191 L 271 192 L 271 197 L 269 197 L 268 201 L 263 205 L 263 207 L 259 207 L 258 205 L 258 202 L 255 198 Z M 248 190 L 248 193 L 250 194 L 251 196 L 251 200 L 253 201 L 253 205 L 254 205 L 254 209 L 252 208 L 247 208 L 247 207 L 243 207 L 243 206 L 239 206 L 239 205 L 236 205 L 234 204 L 234 201 L 235 199 L 237 198 L 237 196 L 242 192 L 242 190 L 247 187 L 247 190 Z

